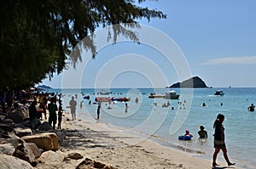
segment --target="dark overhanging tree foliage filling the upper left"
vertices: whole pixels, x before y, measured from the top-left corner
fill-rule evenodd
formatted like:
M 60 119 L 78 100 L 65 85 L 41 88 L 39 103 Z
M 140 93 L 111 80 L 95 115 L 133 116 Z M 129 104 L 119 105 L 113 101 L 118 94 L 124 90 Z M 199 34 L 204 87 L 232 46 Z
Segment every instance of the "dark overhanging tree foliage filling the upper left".
M 145 0 L 138 0 L 143 3 Z M 0 88 L 29 87 L 61 73 L 70 50 L 99 26 L 166 18 L 134 0 L 8 0 L 0 6 Z M 115 34 L 129 34 L 113 27 Z M 116 35 L 113 35 L 116 37 Z M 106 37 L 107 38 L 107 37 Z M 96 54 L 92 39 L 87 46 Z M 94 56 L 94 55 L 93 55 Z

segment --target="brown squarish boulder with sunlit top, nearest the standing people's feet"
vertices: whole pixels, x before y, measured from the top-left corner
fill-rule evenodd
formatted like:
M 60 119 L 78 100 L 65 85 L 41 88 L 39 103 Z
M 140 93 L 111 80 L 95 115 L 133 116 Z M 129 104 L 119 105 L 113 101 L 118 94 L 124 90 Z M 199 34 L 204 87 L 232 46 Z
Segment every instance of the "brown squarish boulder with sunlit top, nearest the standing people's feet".
M 22 137 L 27 143 L 34 143 L 38 148 L 44 150 L 57 150 L 59 149 L 59 140 L 54 132 L 45 132 L 32 136 Z

